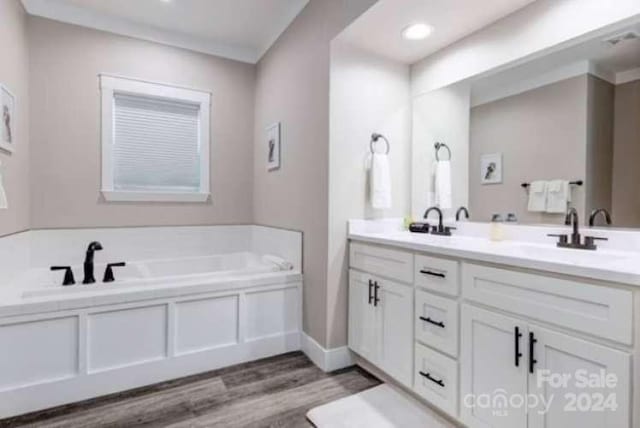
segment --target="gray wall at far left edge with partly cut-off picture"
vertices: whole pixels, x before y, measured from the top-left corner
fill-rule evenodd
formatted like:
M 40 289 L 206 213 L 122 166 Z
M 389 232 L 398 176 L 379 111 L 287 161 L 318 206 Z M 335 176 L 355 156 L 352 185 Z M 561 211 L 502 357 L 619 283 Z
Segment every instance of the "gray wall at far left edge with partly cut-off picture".
M 0 83 L 16 96 L 16 151 L 0 150 L 9 209 L 0 210 L 0 236 L 29 228 L 29 57 L 27 16 L 19 0 L 0 1 Z

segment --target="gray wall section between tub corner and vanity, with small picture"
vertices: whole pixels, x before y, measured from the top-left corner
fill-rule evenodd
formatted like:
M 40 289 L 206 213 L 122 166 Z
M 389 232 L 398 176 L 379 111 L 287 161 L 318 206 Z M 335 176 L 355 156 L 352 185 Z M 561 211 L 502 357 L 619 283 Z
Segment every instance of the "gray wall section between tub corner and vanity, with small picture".
M 304 232 L 304 331 L 323 346 L 334 329 L 327 315 L 330 41 L 373 3 L 311 0 L 258 64 L 255 221 Z M 267 172 L 265 127 L 278 121 L 282 169 Z M 341 337 L 344 327 L 336 328 Z

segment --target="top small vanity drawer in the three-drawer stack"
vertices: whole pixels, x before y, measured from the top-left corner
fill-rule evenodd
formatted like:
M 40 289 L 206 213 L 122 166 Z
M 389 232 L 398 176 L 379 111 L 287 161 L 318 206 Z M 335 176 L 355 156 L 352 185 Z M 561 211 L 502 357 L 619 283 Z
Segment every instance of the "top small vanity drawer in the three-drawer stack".
M 416 285 L 439 293 L 457 296 L 458 262 L 455 260 L 416 255 Z

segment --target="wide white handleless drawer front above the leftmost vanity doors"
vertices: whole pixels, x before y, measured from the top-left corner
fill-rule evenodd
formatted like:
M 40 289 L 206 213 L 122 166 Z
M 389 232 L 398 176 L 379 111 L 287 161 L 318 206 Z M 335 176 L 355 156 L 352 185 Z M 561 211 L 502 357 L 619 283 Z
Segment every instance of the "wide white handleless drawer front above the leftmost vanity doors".
M 349 266 L 405 283 L 413 282 L 413 254 L 352 242 Z

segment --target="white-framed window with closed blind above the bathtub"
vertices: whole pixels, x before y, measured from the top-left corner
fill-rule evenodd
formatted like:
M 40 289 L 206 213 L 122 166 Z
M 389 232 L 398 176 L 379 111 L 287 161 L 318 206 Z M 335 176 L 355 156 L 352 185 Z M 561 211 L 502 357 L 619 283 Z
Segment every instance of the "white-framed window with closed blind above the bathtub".
M 207 201 L 211 95 L 106 75 L 100 87 L 105 199 Z

